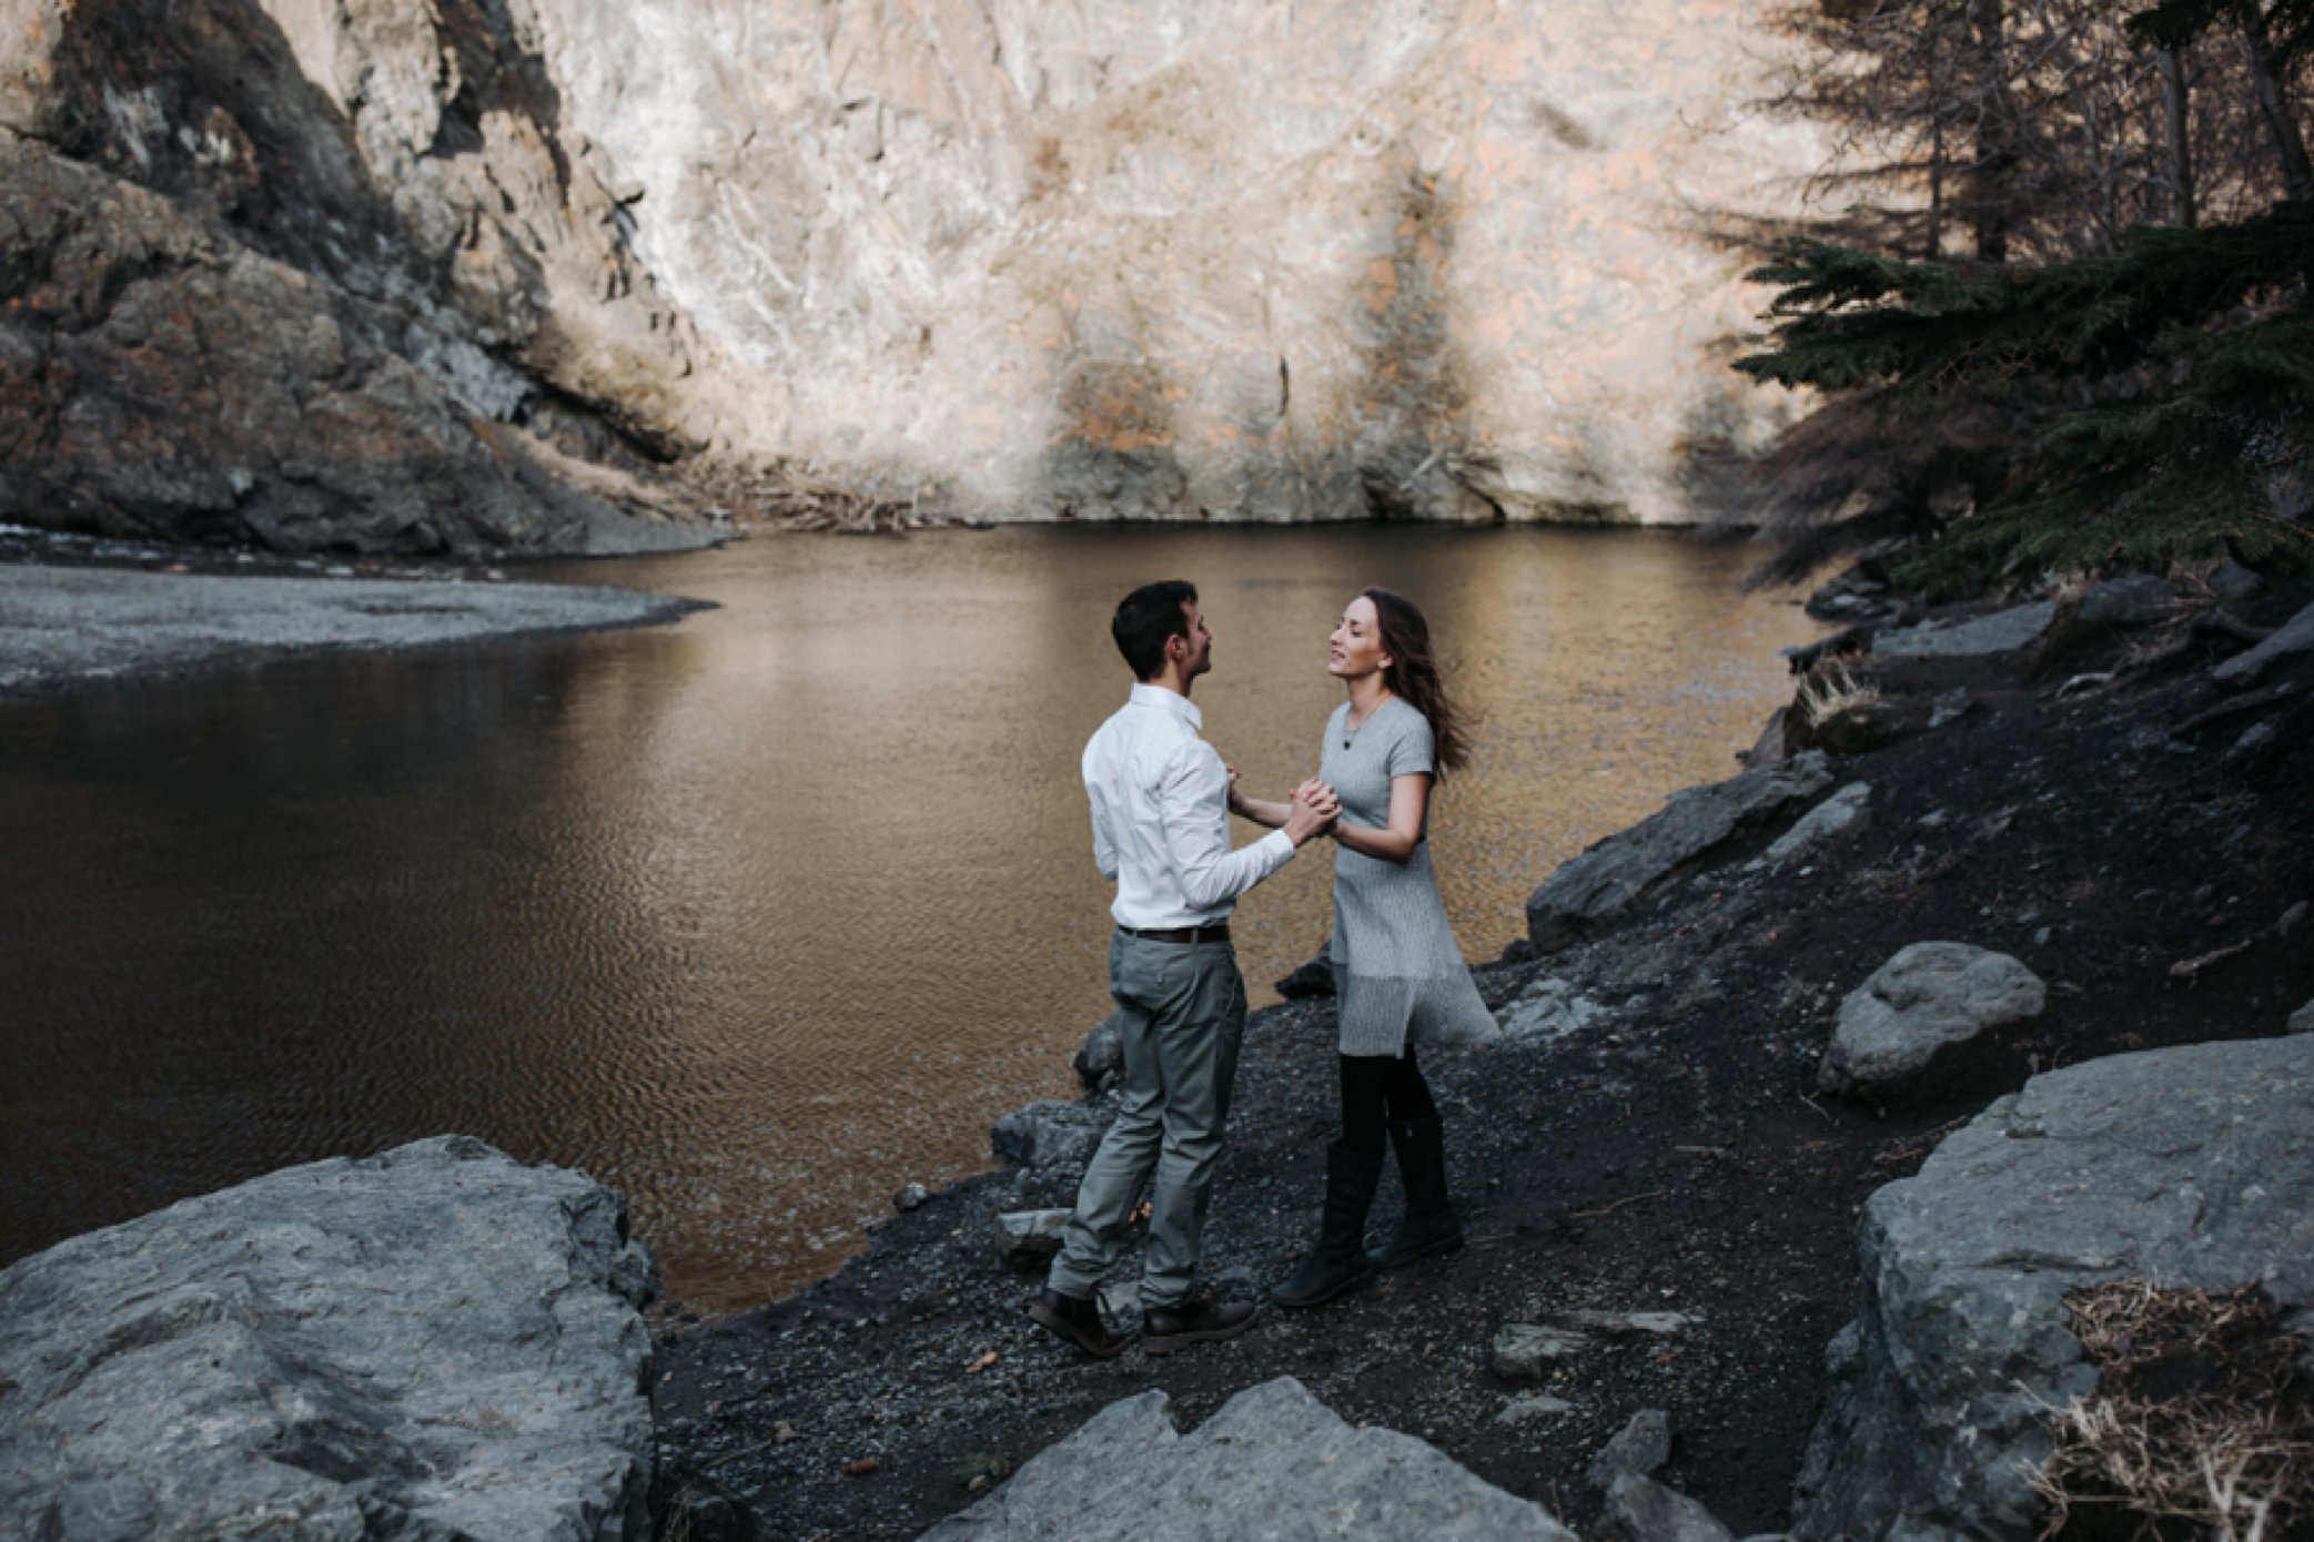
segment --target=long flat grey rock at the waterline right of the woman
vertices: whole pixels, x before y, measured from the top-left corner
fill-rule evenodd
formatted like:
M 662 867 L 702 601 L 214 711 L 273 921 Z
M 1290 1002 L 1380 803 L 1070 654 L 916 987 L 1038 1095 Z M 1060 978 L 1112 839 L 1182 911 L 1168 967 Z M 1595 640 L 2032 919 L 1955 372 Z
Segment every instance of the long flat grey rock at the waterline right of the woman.
M 1673 793 L 1641 823 L 1569 858 L 1543 879 L 1527 899 L 1527 936 L 1541 952 L 1569 948 L 1682 865 L 1830 784 L 1823 754 L 1805 751 Z

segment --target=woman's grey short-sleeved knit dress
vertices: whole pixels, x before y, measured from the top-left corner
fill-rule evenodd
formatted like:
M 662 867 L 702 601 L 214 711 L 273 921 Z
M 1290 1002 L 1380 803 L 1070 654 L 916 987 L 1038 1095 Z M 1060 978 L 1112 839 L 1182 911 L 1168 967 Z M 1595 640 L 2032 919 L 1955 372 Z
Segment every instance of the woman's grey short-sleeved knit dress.
M 1435 770 L 1430 721 L 1398 696 L 1356 728 L 1349 703 L 1326 719 L 1319 777 L 1347 823 L 1386 830 L 1391 779 Z M 1407 1043 L 1476 1043 L 1499 1031 L 1453 941 L 1430 876 L 1428 825 L 1423 835 L 1405 862 L 1335 846 L 1331 962 L 1342 1054 L 1395 1057 Z

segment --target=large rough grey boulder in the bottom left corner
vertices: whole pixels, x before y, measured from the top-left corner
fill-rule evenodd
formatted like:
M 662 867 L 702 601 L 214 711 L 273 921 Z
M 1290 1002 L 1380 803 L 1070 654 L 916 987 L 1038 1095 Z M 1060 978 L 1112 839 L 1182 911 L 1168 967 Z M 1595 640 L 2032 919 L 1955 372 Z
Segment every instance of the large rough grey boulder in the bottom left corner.
M 449 1135 L 0 1272 L 0 1535 L 646 1537 L 650 1258 Z

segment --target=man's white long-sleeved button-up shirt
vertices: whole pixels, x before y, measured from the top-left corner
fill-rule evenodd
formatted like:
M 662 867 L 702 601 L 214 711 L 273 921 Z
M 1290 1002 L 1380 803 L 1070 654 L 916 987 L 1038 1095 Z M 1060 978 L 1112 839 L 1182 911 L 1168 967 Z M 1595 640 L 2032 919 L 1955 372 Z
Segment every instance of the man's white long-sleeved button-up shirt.
M 1092 860 L 1118 881 L 1120 927 L 1210 927 L 1294 855 L 1284 830 L 1229 848 L 1229 770 L 1203 726 L 1187 696 L 1136 684 L 1085 744 Z

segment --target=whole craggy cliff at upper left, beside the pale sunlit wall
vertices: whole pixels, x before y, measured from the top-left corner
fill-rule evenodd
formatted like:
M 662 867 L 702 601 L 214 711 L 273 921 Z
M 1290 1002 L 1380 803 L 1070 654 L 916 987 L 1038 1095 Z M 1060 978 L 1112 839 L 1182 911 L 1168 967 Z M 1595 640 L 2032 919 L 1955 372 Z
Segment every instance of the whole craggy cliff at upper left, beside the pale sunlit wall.
M 697 340 L 481 5 L 0 0 L 0 520 L 683 541 Z

